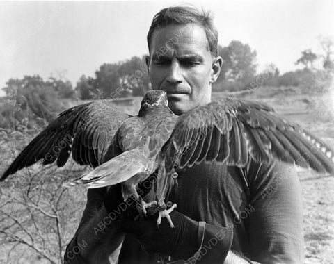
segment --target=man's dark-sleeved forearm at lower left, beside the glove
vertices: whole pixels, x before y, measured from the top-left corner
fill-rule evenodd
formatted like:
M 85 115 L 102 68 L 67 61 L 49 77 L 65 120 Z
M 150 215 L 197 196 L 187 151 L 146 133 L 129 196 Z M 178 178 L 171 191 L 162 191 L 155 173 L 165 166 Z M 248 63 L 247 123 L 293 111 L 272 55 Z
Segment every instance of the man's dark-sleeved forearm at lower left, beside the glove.
M 65 263 L 110 263 L 109 259 L 118 259 L 124 233 L 120 231 L 118 222 L 113 221 L 106 208 L 90 217 L 81 226 L 74 239 L 67 246 Z M 78 262 L 79 261 L 79 262 Z

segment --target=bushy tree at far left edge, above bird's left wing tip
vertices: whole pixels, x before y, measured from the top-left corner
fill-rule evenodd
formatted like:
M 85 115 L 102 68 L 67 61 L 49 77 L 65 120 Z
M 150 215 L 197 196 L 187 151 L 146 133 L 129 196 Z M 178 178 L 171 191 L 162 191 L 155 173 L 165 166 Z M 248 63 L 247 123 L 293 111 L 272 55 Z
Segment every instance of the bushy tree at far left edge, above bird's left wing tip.
M 13 129 L 51 122 L 68 107 L 63 99 L 74 98 L 72 83 L 56 76 L 48 81 L 39 75 L 9 79 L 3 90 L 6 97 L 0 102 L 0 126 Z

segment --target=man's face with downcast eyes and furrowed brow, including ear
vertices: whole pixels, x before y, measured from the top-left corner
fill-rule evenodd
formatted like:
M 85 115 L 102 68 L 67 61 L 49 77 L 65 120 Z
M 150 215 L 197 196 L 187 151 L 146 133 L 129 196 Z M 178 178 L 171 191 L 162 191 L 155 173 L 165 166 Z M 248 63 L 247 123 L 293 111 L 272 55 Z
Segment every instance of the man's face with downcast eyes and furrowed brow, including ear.
M 146 58 L 153 89 L 167 92 L 168 106 L 181 115 L 211 101 L 221 57 L 214 58 L 201 26 L 166 26 L 154 31 Z

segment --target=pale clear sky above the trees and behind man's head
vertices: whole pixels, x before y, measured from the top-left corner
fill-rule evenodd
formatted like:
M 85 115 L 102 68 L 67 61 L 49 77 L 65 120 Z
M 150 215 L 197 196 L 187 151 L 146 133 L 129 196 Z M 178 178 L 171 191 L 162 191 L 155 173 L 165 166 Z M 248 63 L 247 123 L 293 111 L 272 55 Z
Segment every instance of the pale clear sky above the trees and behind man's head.
M 294 70 L 301 51 L 320 52 L 319 35 L 334 35 L 331 0 L 0 1 L 0 89 L 10 78 L 59 72 L 75 87 L 103 63 L 143 56 L 153 16 L 185 3 L 212 10 L 221 46 L 255 49 L 258 72 L 270 63 Z

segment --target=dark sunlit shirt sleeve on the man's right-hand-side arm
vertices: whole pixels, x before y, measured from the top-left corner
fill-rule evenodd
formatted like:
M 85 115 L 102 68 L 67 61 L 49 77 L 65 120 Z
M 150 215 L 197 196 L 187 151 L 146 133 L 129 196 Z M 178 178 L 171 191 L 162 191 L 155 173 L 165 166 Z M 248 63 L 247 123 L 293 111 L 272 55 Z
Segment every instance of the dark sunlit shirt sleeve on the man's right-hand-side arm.
M 301 186 L 294 166 L 250 165 L 248 257 L 259 263 L 303 263 Z M 256 263 L 256 262 L 255 262 Z

